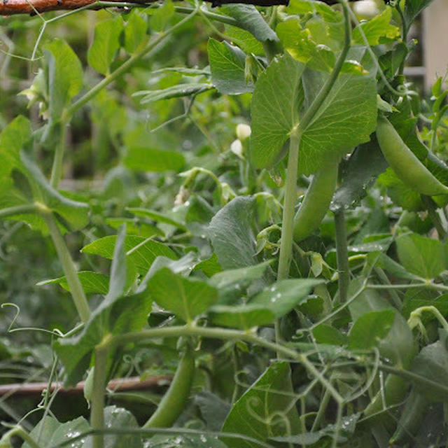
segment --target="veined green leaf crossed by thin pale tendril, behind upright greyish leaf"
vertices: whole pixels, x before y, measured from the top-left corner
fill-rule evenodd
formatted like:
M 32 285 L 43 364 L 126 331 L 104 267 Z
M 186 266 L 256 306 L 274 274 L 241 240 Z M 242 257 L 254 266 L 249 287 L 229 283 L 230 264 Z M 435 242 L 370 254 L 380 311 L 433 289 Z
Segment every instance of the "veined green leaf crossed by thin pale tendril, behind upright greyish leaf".
M 113 258 L 113 249 L 116 244 L 116 235 L 104 237 L 93 241 L 81 249 L 83 253 L 100 255 L 103 258 Z M 127 235 L 125 238 L 127 258 L 134 264 L 140 274 L 146 274 L 158 256 L 164 256 L 175 260 L 176 254 L 165 244 L 158 243 L 152 239 Z

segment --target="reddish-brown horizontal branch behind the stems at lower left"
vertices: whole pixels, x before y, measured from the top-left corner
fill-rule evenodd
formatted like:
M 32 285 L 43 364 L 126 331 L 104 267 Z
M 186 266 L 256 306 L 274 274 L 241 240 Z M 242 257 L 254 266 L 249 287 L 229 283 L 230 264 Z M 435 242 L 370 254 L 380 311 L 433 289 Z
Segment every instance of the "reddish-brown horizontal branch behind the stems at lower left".
M 165 386 L 165 384 L 171 380 L 171 375 L 148 377 L 143 381 L 141 381 L 139 377 L 118 378 L 109 381 L 107 388 L 116 392 L 141 391 L 142 389 Z M 83 393 L 84 384 L 85 381 L 80 381 L 74 387 L 65 388 L 62 386 L 62 383 L 55 382 L 51 384 L 50 392 L 54 392 L 57 389 L 57 393 L 62 393 L 64 395 L 79 395 L 80 393 Z M 1 384 L 0 396 L 41 395 L 46 388 L 48 388 L 48 383 Z

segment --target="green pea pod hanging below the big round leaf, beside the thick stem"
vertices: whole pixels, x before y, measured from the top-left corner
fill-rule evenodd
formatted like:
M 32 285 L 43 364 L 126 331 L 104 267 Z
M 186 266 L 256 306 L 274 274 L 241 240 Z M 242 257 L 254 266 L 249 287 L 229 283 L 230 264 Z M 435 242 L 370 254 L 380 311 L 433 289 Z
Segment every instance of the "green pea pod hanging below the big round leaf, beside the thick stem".
M 309 237 L 321 224 L 335 193 L 338 165 L 332 162 L 314 174 L 294 217 L 294 241 Z

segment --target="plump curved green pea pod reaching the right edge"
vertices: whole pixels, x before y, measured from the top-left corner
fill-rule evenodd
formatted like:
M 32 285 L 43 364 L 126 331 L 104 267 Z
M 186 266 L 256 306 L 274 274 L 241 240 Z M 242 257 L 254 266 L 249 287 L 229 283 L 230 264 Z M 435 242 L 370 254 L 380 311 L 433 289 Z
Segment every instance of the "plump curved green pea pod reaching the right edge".
M 377 122 L 377 139 L 384 158 L 409 188 L 427 196 L 448 194 L 448 187 L 431 174 L 402 141 L 391 123 L 381 116 Z

